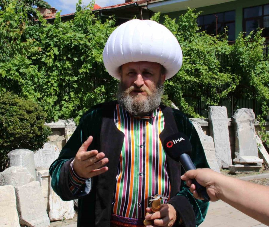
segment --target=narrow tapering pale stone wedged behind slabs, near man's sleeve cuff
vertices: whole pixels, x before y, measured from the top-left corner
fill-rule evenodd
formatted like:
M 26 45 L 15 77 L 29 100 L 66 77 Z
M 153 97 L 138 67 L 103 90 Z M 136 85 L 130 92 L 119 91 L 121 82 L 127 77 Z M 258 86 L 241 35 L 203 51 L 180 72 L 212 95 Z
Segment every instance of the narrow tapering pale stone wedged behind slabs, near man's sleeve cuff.
M 47 214 L 49 214 L 50 211 L 50 205 L 49 205 L 49 194 L 50 194 L 50 181 L 51 176 L 49 174 L 48 170 L 39 170 L 36 171 L 36 180 L 39 181 L 40 187 L 42 190 L 42 194 L 44 197 L 44 204 L 46 207 Z

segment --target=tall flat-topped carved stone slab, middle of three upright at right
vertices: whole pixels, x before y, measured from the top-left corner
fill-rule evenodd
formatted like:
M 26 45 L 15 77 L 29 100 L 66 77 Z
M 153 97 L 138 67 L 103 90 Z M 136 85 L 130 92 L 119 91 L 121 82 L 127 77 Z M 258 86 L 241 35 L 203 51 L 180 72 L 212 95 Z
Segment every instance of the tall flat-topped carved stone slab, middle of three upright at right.
M 210 136 L 215 143 L 216 158 L 220 168 L 232 165 L 228 116 L 225 106 L 210 106 L 208 111 Z

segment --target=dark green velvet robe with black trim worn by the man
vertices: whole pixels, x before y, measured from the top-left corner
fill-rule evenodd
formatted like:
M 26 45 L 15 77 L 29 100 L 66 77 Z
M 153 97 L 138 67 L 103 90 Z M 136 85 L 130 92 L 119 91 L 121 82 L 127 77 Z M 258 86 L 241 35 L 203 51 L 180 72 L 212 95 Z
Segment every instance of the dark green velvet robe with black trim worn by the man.
M 81 227 L 110 226 L 117 165 L 124 139 L 124 134 L 114 123 L 113 110 L 116 104 L 115 101 L 108 102 L 96 105 L 87 111 L 80 119 L 74 134 L 62 148 L 59 158 L 51 164 L 49 170 L 52 188 L 62 200 L 79 199 L 78 226 Z M 192 144 L 191 159 L 196 168 L 209 168 L 201 141 L 191 121 L 181 111 L 165 106 L 161 106 L 161 110 L 165 119 L 165 127 L 159 136 L 161 141 L 178 131 L 183 132 Z M 93 177 L 91 186 L 86 181 L 86 186 L 82 188 L 81 193 L 73 195 L 68 185 L 69 166 L 82 143 L 90 135 L 94 139 L 88 151 L 96 149 L 104 152 L 109 160 L 108 171 Z M 175 207 L 185 227 L 198 226 L 203 222 L 209 204 L 192 196 L 186 183 L 180 179 L 184 174 L 180 163 L 172 160 L 168 155 L 166 157 L 171 185 L 171 199 L 168 203 Z M 180 225 L 176 223 L 174 226 Z

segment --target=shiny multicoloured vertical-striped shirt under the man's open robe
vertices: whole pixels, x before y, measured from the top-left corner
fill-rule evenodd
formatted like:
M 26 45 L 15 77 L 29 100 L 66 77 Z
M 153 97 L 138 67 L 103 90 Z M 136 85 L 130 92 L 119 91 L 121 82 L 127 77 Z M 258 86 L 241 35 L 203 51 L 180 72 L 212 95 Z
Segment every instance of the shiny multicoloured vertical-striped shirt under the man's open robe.
M 151 206 L 150 196 L 160 194 L 170 198 L 166 155 L 159 138 L 164 117 L 161 108 L 150 116 L 136 118 L 117 105 L 114 121 L 125 137 L 112 210 L 122 217 L 144 218 L 146 207 Z

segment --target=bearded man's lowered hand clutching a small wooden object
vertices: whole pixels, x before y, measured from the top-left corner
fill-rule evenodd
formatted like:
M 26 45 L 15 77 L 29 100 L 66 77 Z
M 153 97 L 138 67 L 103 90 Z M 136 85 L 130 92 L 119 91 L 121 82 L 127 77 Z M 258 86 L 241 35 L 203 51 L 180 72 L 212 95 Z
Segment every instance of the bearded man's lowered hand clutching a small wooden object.
M 152 212 L 151 208 L 146 208 L 147 212 Z M 159 211 L 148 214 L 145 217 L 147 220 L 154 220 L 154 226 L 165 226 L 170 227 L 173 226 L 177 219 L 177 212 L 173 205 L 166 203 L 162 204 Z M 152 227 L 152 226 L 147 226 Z

